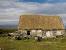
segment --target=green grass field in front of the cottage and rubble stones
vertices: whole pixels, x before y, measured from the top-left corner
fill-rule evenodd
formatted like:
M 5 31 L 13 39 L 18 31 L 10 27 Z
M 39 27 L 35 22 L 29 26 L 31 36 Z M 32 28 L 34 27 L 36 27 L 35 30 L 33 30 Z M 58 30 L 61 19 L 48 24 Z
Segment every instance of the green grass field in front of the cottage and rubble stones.
M 66 50 L 66 39 L 45 39 L 37 42 L 34 39 L 12 40 L 0 37 L 0 48 L 3 50 Z

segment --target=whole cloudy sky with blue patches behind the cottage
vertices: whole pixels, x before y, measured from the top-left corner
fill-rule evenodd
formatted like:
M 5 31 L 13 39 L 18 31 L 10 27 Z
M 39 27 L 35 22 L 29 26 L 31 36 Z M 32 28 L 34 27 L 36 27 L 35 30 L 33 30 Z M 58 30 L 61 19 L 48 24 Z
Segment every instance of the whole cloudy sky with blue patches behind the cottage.
M 0 0 L 0 25 L 15 24 L 22 14 L 57 15 L 66 25 L 66 0 Z

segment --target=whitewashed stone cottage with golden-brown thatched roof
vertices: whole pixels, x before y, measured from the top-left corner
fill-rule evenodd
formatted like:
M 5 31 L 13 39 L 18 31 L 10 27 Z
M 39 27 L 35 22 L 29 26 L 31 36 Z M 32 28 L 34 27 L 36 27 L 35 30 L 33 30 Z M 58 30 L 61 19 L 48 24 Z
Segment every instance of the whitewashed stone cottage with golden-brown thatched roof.
M 21 15 L 18 31 L 43 38 L 55 37 L 64 34 L 64 25 L 60 16 Z

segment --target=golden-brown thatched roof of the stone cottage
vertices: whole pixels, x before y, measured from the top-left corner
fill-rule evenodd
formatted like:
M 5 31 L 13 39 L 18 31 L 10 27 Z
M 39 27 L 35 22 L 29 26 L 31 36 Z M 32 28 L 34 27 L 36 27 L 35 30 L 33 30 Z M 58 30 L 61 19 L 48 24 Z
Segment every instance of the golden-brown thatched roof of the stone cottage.
M 64 25 L 59 16 L 22 15 L 18 29 L 64 29 Z

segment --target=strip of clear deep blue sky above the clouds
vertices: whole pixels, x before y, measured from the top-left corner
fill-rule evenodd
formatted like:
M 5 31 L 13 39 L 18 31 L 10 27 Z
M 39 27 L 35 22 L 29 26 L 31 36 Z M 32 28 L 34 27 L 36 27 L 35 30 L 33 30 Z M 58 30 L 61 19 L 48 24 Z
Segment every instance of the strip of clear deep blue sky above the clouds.
M 36 3 L 63 3 L 66 0 L 18 0 L 19 2 L 36 2 Z

